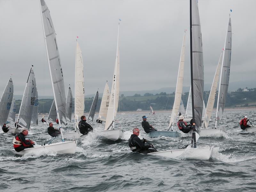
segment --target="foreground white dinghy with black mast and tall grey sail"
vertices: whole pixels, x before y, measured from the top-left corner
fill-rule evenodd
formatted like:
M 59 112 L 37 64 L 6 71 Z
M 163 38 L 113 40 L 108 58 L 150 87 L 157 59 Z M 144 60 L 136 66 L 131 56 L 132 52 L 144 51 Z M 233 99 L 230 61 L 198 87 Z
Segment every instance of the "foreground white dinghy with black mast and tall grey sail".
M 152 156 L 169 158 L 186 158 L 208 160 L 212 154 L 212 147 L 197 148 L 196 142 L 200 137 L 200 127 L 203 113 L 204 65 L 203 48 L 198 5 L 196 0 L 190 0 L 190 62 L 191 62 L 191 97 L 192 121 L 194 131 L 191 147 L 148 153 Z

